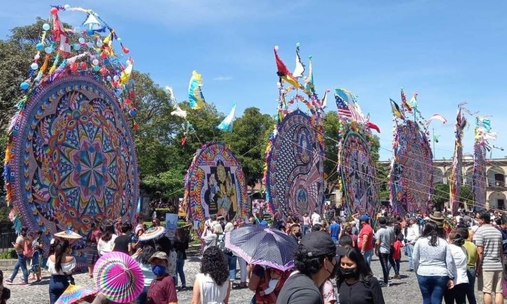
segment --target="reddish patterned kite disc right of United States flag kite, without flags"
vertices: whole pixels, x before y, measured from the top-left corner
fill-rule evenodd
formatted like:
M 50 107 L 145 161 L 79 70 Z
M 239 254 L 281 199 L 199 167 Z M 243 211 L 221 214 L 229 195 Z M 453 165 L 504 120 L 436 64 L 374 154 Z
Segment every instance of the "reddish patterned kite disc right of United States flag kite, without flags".
M 389 185 L 395 213 L 427 212 L 433 190 L 431 148 L 424 132 L 412 121 L 396 127 Z

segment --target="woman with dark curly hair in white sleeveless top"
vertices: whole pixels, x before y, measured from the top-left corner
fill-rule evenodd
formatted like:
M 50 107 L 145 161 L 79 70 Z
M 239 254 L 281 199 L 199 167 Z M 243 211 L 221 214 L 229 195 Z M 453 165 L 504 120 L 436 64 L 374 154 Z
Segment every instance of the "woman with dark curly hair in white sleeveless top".
M 230 292 L 227 260 L 219 247 L 211 246 L 202 254 L 201 273 L 195 278 L 192 304 L 228 304 Z

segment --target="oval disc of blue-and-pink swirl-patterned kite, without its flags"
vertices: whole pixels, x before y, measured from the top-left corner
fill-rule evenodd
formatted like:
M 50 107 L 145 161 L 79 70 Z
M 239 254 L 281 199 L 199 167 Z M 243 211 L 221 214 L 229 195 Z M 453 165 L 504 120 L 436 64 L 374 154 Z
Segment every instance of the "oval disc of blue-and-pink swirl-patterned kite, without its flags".
M 296 109 L 283 118 L 275 134 L 266 160 L 271 209 L 296 216 L 319 211 L 324 199 L 324 153 L 310 117 Z

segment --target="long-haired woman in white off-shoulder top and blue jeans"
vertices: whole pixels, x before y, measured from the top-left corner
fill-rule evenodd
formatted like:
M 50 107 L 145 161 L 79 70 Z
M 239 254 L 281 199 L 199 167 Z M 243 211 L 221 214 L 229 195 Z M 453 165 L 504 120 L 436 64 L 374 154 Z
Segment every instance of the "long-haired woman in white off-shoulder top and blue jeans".
M 68 287 L 67 277 L 76 268 L 74 256 L 69 254 L 69 243 L 67 240 L 55 240 L 55 251 L 48 257 L 48 271 L 51 274 L 49 279 L 49 302 L 53 304 Z

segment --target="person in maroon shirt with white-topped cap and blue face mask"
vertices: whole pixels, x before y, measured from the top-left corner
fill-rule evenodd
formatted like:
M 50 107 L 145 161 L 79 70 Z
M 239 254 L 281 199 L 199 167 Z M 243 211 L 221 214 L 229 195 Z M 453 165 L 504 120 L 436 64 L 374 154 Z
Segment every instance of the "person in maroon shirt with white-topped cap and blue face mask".
M 155 275 L 148 288 L 146 304 L 174 304 L 178 302 L 174 279 L 166 273 L 167 254 L 163 251 L 155 252 L 148 260 L 152 264 Z

